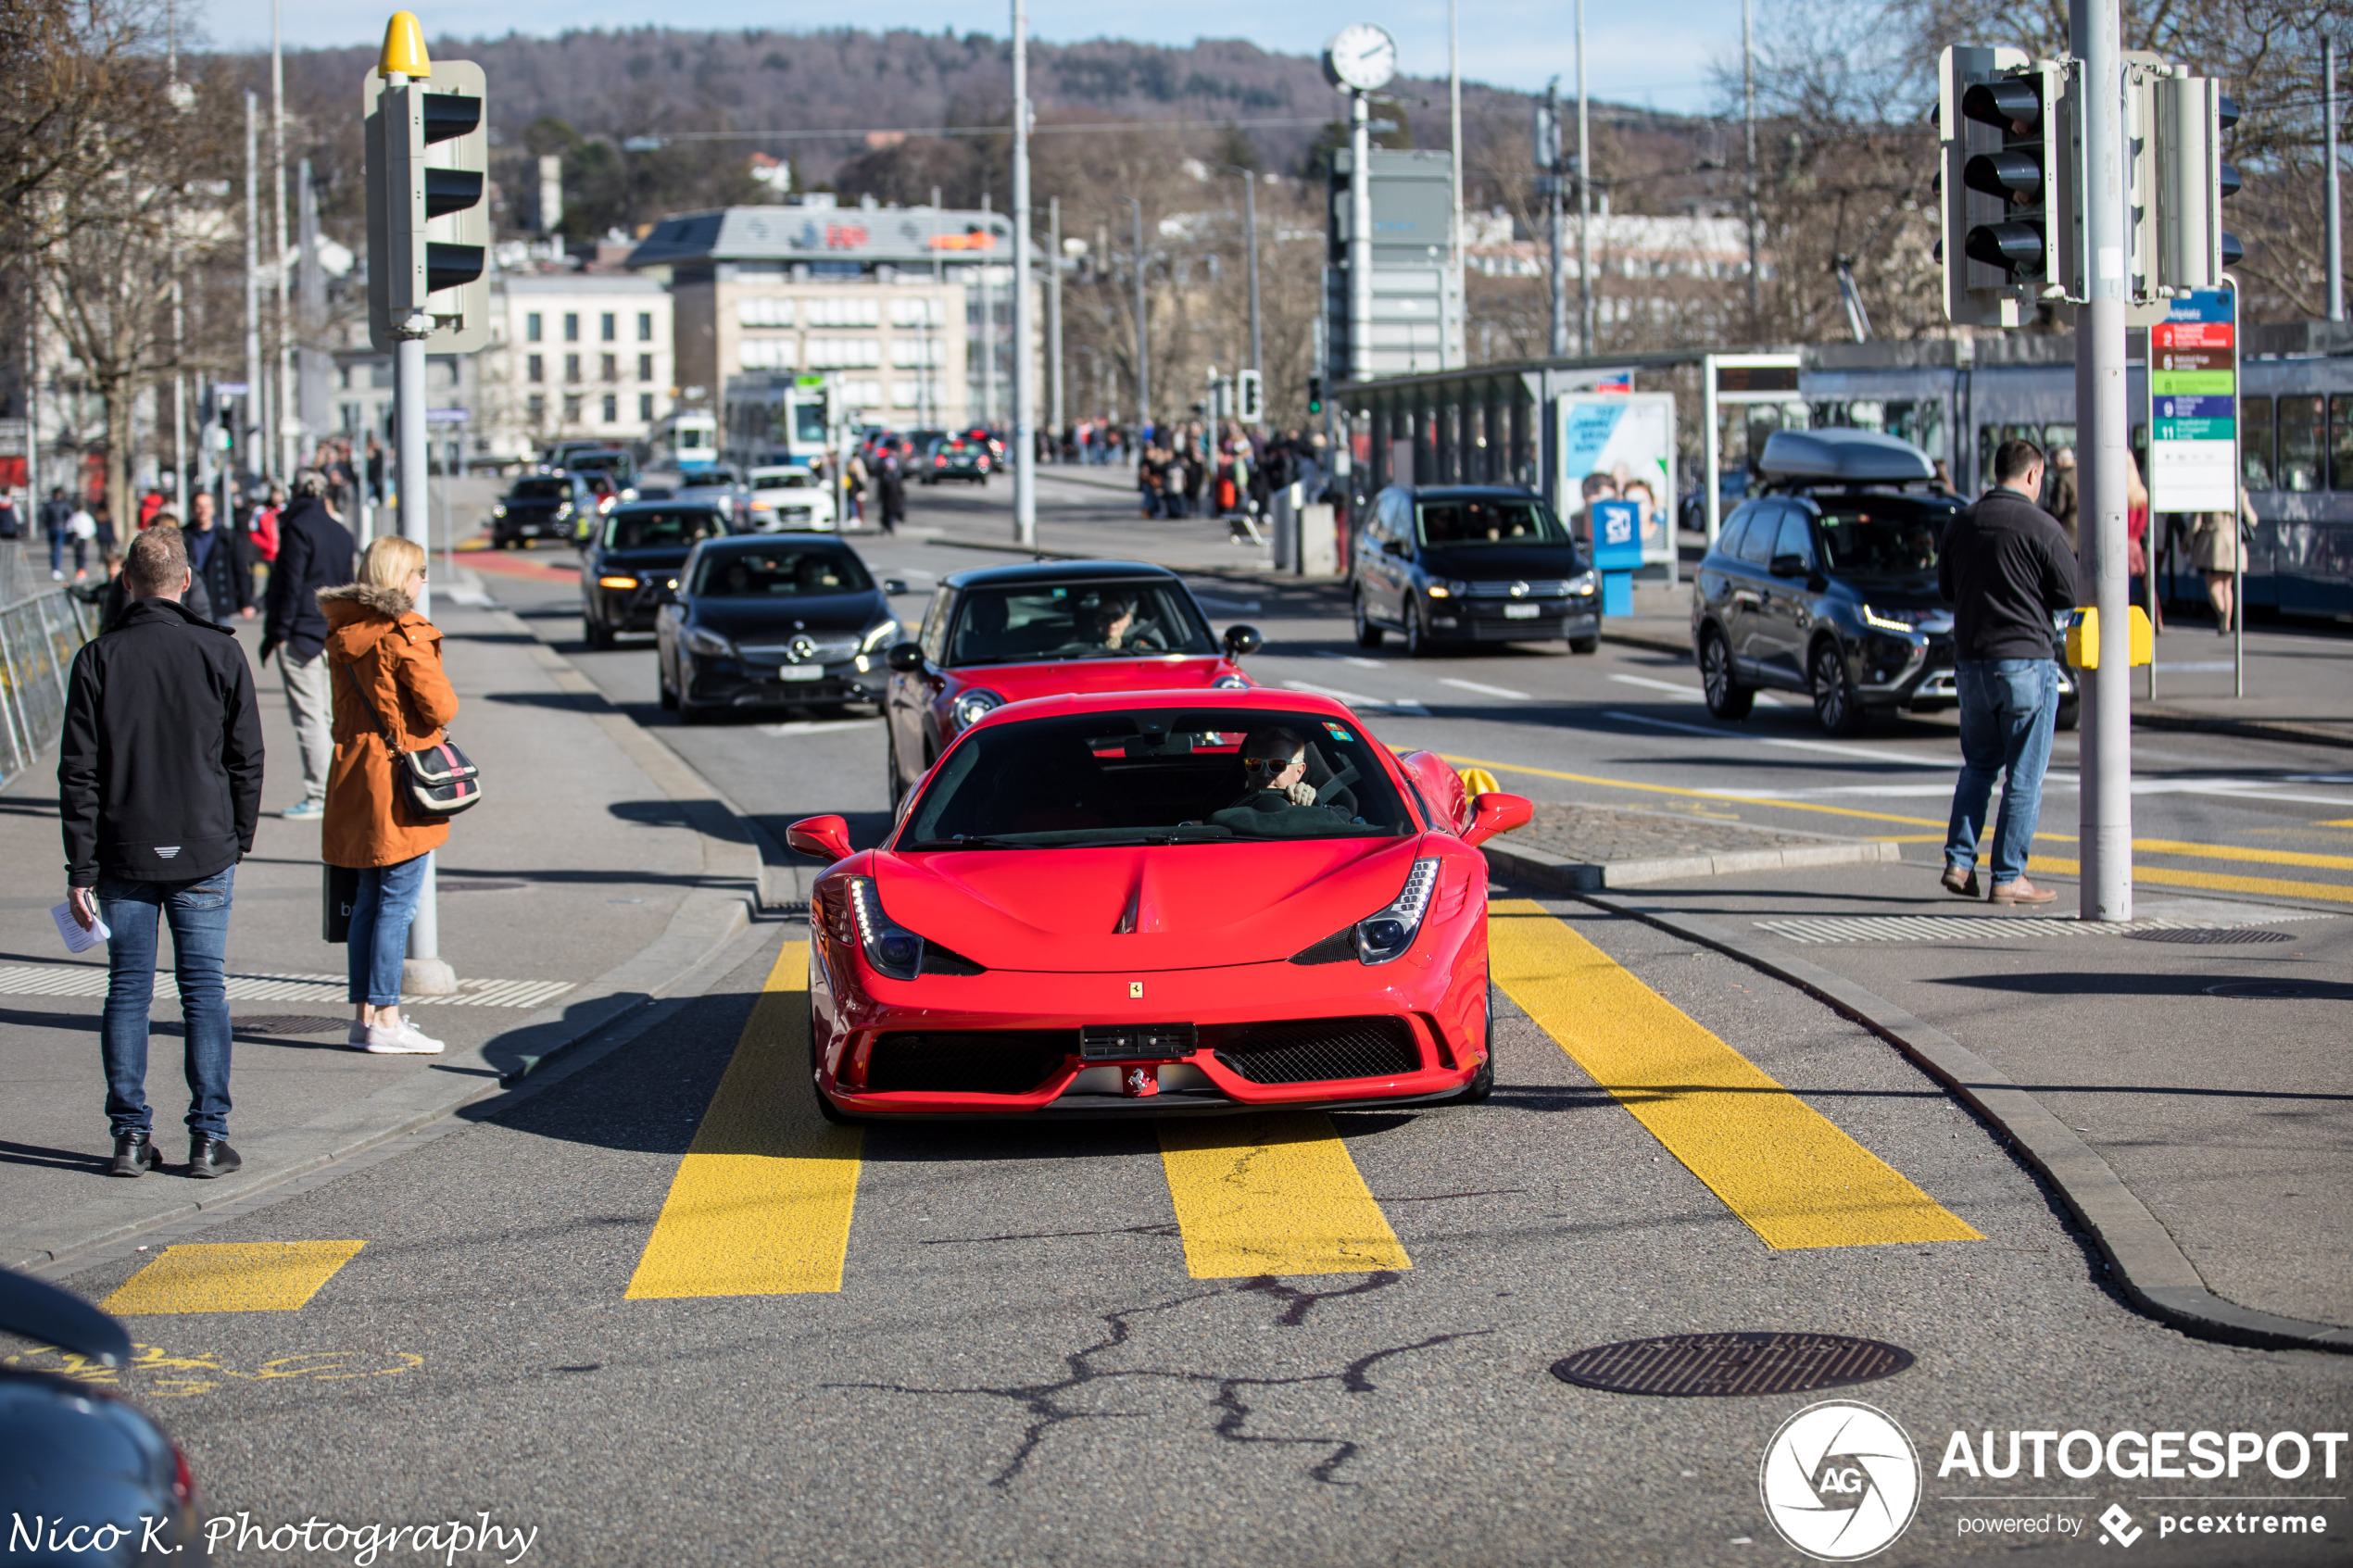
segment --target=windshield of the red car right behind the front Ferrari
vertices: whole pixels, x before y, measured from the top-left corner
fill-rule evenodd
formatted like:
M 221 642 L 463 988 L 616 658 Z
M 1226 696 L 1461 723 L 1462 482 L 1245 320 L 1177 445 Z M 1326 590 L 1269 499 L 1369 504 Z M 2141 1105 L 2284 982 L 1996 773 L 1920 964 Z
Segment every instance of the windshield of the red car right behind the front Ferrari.
M 972 588 L 948 644 L 951 665 L 1153 654 L 1217 654 L 1193 595 L 1167 578 Z

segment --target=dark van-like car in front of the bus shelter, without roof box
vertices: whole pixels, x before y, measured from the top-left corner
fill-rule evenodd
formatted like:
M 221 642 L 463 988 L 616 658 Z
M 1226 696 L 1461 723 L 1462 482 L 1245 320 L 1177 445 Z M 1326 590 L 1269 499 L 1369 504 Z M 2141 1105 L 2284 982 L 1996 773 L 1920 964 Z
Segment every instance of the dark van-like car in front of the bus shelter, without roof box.
M 1391 628 L 1412 656 L 1440 642 L 1567 637 L 1577 654 L 1602 642 L 1600 585 L 1534 491 L 1393 484 L 1365 510 L 1348 578 L 1362 649 Z

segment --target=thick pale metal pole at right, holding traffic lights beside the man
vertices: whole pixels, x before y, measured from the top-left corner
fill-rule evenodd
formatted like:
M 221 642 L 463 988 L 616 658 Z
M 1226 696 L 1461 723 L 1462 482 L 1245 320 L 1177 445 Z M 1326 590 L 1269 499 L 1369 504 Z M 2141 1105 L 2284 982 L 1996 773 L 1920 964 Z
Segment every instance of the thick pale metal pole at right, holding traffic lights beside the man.
M 2132 919 L 2132 597 L 2127 585 L 2125 404 L 2125 127 L 2118 0 L 2071 0 L 2068 40 L 2082 59 L 2085 254 L 2089 301 L 2075 315 L 2075 409 L 2082 482 L 2082 569 L 2099 607 L 2099 668 L 2082 693 L 2082 919 Z

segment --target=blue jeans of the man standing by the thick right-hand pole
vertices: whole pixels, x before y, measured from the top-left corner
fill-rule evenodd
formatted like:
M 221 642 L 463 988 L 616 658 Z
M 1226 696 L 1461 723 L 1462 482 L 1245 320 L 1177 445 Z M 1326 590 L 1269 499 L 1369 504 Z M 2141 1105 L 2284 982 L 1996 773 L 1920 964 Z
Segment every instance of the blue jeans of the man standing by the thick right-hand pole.
M 1993 827 L 1993 886 L 2026 875 L 2035 820 L 2042 816 L 2042 771 L 2052 762 L 2059 722 L 2059 665 L 2047 658 L 1962 658 L 1953 668 L 1960 691 L 1960 780 L 1953 785 L 1953 825 L 1944 863 L 1977 867 L 1993 780 L 2002 783 L 2002 816 Z

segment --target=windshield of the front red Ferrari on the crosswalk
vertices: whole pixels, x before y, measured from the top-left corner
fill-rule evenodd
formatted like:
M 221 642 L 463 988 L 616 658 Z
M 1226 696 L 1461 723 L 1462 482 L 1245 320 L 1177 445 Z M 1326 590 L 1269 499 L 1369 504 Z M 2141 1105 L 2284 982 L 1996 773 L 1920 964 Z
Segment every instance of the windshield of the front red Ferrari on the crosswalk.
M 1353 722 L 1264 710 L 1144 708 L 984 724 L 941 759 L 896 849 L 1414 832 L 1374 745 Z

